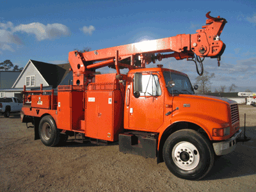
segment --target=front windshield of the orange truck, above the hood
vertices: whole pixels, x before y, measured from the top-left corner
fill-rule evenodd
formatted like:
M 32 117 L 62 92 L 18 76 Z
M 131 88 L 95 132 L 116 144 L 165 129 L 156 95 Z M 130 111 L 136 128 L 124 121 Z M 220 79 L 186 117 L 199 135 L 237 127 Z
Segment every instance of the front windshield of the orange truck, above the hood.
M 169 81 L 175 82 L 175 86 L 173 86 L 173 88 L 169 86 L 167 87 L 169 93 L 195 94 L 194 89 L 187 76 L 171 73 L 170 71 L 164 71 L 163 74 L 165 84 L 168 84 Z

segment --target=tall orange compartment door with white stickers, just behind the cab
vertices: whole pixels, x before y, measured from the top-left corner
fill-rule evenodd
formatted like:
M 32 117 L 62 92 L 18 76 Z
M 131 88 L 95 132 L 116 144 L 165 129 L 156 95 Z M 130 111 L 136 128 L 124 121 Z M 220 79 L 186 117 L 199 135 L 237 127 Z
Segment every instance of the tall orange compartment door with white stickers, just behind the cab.
M 113 92 L 86 95 L 86 136 L 113 141 Z

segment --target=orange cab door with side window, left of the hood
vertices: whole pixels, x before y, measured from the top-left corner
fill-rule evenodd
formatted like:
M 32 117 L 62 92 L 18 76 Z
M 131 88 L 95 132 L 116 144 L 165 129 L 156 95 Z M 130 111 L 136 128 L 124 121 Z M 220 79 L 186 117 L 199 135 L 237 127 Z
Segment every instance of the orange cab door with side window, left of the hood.
M 135 76 L 130 92 L 129 129 L 156 131 L 164 121 L 164 94 L 159 74 L 140 74 L 136 80 Z M 134 93 L 134 90 L 139 90 L 139 93 Z

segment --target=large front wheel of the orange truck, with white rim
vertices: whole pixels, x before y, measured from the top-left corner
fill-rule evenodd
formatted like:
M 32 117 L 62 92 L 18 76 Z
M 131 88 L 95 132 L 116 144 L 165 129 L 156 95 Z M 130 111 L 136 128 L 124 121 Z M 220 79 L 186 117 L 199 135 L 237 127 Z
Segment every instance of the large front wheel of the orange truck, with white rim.
M 163 159 L 173 175 L 187 180 L 205 177 L 214 163 L 211 143 L 199 132 L 182 129 L 164 143 Z

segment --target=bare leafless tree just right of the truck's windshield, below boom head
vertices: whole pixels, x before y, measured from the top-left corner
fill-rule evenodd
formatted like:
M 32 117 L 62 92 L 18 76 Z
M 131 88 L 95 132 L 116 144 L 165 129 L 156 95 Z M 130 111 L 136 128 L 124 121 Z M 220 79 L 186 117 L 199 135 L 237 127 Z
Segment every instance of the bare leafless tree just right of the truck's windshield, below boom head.
M 209 74 L 205 71 L 202 76 L 196 77 L 196 84 L 199 84 L 198 93 L 209 93 L 211 92 L 211 82 L 210 80 L 215 77 L 214 73 Z

